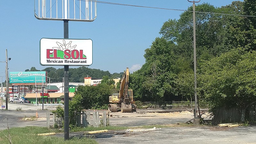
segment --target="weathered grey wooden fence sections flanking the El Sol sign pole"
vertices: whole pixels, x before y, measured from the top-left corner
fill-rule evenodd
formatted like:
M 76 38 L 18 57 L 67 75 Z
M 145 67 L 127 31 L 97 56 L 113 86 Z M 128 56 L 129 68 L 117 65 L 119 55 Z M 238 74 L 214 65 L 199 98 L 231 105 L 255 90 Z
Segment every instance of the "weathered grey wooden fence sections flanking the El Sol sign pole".
M 82 111 L 81 115 L 76 116 L 76 125 L 78 127 L 80 127 L 81 124 L 83 127 L 107 126 L 109 125 L 109 112 L 103 111 L 102 113 L 103 114 L 100 114 L 98 111 Z M 81 121 L 81 116 L 82 116 L 82 121 Z M 47 112 L 46 126 L 48 128 L 62 127 L 63 121 L 64 120 L 61 117 L 57 117 L 55 114 L 52 114 L 50 111 Z

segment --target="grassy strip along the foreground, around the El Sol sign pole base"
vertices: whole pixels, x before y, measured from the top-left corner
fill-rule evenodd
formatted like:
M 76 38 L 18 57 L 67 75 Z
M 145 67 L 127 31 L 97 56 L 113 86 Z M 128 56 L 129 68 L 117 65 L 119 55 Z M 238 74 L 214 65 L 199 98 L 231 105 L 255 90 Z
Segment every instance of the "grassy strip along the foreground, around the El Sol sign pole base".
M 190 127 L 193 124 L 170 124 L 170 125 L 145 125 L 145 126 L 137 126 L 137 127 L 122 127 L 122 126 L 107 126 L 107 127 L 86 127 L 73 128 L 69 132 L 89 132 L 89 131 L 98 131 L 98 130 L 126 130 L 126 129 L 136 129 L 136 128 L 166 128 L 166 127 Z M 38 136 L 38 133 L 63 133 L 63 129 L 50 129 L 48 130 L 46 127 L 37 127 L 37 126 L 26 126 L 26 127 L 17 127 L 9 129 L 11 134 L 11 140 L 13 144 L 98 144 L 96 140 L 89 138 L 73 138 L 71 140 L 64 141 L 64 138 L 58 138 L 55 136 Z M 8 144 L 9 141 L 6 138 L 8 137 L 8 130 L 0 131 L 0 143 Z

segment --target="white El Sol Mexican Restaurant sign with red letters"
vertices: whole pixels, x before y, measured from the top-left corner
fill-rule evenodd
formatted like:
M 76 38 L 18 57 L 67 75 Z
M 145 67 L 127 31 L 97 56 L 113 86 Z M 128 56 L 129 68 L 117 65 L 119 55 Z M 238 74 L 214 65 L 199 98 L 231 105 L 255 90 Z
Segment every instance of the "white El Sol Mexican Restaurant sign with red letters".
M 90 66 L 92 65 L 92 40 L 42 38 L 40 64 L 42 66 Z

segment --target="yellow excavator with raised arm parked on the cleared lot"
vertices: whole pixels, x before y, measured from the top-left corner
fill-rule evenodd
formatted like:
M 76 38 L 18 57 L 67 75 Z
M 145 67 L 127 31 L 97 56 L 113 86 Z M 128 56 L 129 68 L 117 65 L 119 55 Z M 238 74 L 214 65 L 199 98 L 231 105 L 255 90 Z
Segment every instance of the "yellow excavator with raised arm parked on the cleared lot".
M 109 103 L 112 104 L 108 104 L 108 110 L 111 112 L 121 110 L 122 113 L 136 111 L 132 89 L 128 89 L 128 86 L 129 68 L 126 68 L 126 71 L 121 78 L 119 93 L 113 93 L 112 96 L 109 96 Z

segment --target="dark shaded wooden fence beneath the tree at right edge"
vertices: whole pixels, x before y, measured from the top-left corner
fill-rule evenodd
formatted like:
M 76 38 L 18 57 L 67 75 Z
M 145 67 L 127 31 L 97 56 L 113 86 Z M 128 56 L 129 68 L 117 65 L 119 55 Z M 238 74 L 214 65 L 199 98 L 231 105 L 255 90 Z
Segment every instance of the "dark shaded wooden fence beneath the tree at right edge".
M 256 106 L 248 107 L 244 111 L 244 118 L 247 121 L 256 121 Z M 212 122 L 230 123 L 241 122 L 242 112 L 240 108 L 219 108 L 212 118 Z

